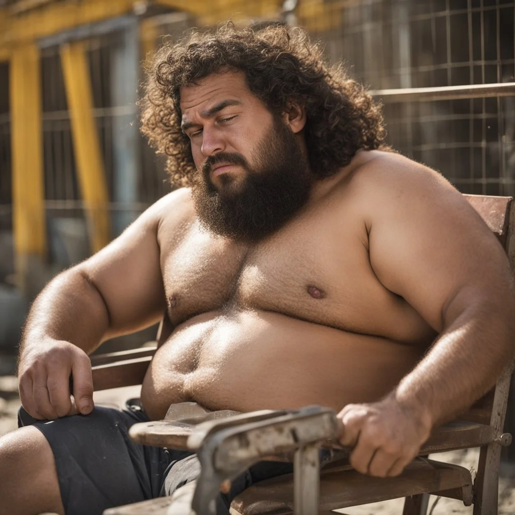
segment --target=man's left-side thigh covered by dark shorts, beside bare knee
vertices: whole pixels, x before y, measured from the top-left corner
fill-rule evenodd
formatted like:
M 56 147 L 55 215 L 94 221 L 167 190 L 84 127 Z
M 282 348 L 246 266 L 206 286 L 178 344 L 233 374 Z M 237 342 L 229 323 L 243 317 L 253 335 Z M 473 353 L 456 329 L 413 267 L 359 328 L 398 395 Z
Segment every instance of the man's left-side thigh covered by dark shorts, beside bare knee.
M 138 421 L 125 411 L 95 407 L 90 415 L 33 425 L 52 448 L 67 513 L 101 514 L 159 495 L 168 457 L 130 440 L 129 427 Z

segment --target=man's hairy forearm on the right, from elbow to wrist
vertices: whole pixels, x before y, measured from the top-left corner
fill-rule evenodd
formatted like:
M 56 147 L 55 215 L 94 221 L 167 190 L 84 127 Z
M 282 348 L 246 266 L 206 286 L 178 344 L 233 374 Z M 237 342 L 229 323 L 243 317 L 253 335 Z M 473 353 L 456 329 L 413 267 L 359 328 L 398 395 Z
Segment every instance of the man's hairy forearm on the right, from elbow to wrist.
M 457 316 L 391 395 L 432 426 L 452 420 L 486 393 L 513 357 L 506 306 L 471 306 Z

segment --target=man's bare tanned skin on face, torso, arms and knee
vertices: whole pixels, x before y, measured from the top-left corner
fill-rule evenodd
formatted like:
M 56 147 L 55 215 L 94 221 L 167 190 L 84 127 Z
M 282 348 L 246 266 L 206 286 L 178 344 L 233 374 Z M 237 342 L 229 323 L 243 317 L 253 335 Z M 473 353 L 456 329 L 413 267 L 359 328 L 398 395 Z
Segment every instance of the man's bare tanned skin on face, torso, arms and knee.
M 205 116 L 224 100 L 237 102 Z M 181 110 L 197 167 L 222 151 L 252 163 L 272 124 L 241 73 L 182 88 Z M 284 122 L 305 148 L 302 108 Z M 211 174 L 217 188 L 244 180 L 237 165 Z M 359 151 L 259 243 L 203 230 L 187 189 L 156 202 L 40 294 L 20 394 L 37 418 L 90 413 L 87 354 L 166 309 L 175 329 L 142 387 L 150 418 L 182 401 L 241 411 L 322 404 L 339 412 L 358 471 L 395 476 L 435 425 L 494 384 L 513 355 L 513 299 L 503 249 L 445 179 L 395 153 Z M 29 441 L 38 458 L 27 472 Z M 0 439 L 0 497 L 0 513 L 63 513 L 52 452 L 33 427 Z

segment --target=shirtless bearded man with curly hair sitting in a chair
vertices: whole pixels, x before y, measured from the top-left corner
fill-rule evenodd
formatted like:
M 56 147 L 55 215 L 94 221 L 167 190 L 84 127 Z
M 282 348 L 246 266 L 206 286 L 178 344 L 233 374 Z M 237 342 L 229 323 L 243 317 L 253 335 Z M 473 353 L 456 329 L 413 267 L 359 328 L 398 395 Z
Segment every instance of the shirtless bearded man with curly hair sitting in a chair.
M 398 475 L 513 354 L 501 246 L 439 174 L 381 149 L 379 108 L 300 29 L 228 25 L 165 45 L 142 108 L 172 179 L 191 187 L 33 304 L 20 394 L 30 415 L 58 420 L 0 441 L 0 513 L 97 513 L 170 493 L 195 457 L 150 455 L 122 428 L 183 401 L 329 406 L 352 465 Z M 174 331 L 143 383 L 146 416 L 93 408 L 88 354 L 165 309 Z

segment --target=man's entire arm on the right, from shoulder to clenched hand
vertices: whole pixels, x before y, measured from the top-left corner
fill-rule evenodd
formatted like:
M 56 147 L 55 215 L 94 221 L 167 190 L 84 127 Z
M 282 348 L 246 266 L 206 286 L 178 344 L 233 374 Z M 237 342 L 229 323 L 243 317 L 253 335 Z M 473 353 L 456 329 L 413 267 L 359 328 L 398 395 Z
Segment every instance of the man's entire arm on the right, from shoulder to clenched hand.
M 367 166 L 357 187 L 371 266 L 439 333 L 386 399 L 341 413 L 356 468 L 397 475 L 431 428 L 488 391 L 513 356 L 513 280 L 504 250 L 447 181 L 400 156 Z

